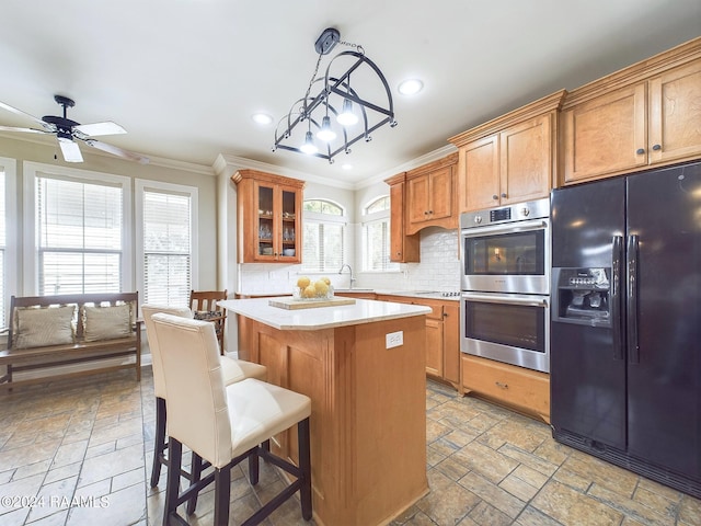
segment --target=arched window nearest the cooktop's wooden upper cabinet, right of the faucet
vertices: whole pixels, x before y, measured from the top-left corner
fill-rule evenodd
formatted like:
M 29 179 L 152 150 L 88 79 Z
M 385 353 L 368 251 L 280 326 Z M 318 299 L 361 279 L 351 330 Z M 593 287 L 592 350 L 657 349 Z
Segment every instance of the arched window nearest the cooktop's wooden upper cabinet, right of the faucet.
M 363 214 L 363 270 L 399 270 L 399 263 L 390 262 L 390 197 L 378 197 Z

